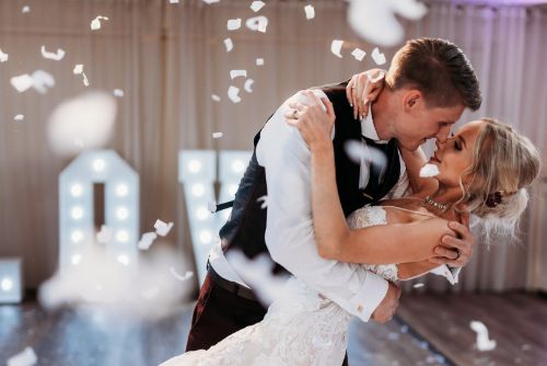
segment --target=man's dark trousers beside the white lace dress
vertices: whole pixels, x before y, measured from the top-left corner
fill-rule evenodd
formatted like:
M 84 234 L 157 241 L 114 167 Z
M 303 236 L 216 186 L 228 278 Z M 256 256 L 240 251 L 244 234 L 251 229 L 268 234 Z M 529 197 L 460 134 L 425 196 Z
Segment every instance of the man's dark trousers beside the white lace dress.
M 264 319 L 266 309 L 218 286 L 207 275 L 191 318 L 186 351 L 207 350 L 232 333 Z M 242 365 L 243 366 L 243 365 Z M 348 356 L 342 366 L 348 366 Z

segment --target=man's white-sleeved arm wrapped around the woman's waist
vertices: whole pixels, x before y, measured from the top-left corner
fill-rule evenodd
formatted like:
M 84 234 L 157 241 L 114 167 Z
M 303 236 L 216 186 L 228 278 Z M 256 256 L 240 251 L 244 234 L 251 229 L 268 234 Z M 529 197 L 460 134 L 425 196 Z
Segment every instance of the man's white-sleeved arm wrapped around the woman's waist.
M 317 253 L 311 205 L 311 155 L 298 129 L 287 125 L 283 117 L 288 104 L 303 102 L 303 98 L 295 94 L 283 103 L 261 130 L 257 145 L 257 160 L 266 169 L 268 186 L 266 244 L 276 262 L 368 321 L 386 297 L 388 283 L 358 264 L 325 260 Z M 393 296 L 387 296 L 387 300 L 396 302 Z

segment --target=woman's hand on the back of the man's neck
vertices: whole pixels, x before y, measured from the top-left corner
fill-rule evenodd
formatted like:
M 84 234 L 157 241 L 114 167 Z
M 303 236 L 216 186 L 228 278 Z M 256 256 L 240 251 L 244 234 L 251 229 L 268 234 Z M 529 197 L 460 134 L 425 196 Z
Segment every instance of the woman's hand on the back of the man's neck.
M 346 87 L 346 96 L 353 107 L 353 118 L 364 118 L 369 114 L 369 105 L 374 102 L 384 89 L 385 71 L 371 69 L 356 73 Z

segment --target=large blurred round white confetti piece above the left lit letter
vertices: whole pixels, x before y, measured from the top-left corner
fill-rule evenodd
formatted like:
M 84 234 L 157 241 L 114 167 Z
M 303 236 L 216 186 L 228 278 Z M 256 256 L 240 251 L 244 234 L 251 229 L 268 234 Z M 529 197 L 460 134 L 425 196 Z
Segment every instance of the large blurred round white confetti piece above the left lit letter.
M 60 155 L 81 152 L 74 140 L 88 148 L 101 148 L 112 136 L 116 113 L 112 93 L 88 92 L 63 101 L 49 116 L 49 144 Z

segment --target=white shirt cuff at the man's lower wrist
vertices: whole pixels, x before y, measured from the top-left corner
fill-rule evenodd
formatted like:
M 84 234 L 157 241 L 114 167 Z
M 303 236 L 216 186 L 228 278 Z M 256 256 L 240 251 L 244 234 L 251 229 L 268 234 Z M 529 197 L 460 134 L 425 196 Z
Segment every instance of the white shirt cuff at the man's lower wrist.
M 354 295 L 350 301 L 353 307 L 351 311 L 362 321 L 369 321 L 372 313 L 379 307 L 380 302 L 387 294 L 387 281 L 372 272 L 366 272 L 361 289 Z

